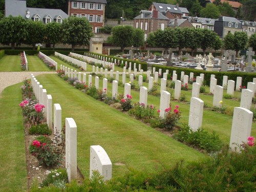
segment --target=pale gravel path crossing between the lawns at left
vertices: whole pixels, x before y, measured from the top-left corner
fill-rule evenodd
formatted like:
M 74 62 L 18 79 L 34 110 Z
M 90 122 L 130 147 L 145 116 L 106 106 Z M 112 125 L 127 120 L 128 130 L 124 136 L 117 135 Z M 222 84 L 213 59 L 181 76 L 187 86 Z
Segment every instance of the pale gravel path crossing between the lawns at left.
M 33 75 L 40 75 L 40 74 L 56 74 L 56 72 L 0 72 L 0 95 L 2 91 L 11 86 L 13 84 L 22 82 L 26 77 L 28 79 L 31 78 L 31 73 Z

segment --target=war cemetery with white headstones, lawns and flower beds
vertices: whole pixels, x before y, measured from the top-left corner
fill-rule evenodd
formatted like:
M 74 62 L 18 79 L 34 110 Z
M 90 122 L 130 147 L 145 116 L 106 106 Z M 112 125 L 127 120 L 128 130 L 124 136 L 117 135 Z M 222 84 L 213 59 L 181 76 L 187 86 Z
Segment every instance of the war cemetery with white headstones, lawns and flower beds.
M 254 190 L 255 73 L 26 50 L 0 59 L 16 71 L 29 75 L 0 93 L 0 190 Z

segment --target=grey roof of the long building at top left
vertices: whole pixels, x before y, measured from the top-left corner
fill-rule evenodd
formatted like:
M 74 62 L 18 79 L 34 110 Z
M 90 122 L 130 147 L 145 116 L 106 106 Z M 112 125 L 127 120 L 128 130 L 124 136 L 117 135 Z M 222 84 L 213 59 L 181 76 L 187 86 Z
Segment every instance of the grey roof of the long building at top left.
M 6 0 L 5 1 L 5 7 L 6 7 L 6 16 L 12 15 L 12 16 L 22 16 L 26 18 L 26 10 L 28 10 L 31 16 L 35 16 L 38 14 L 39 17 L 45 18 L 46 16 L 51 16 L 52 18 L 55 18 L 56 16 L 61 16 L 63 19 L 68 18 L 69 15 L 63 12 L 60 9 L 42 9 L 42 8 L 29 8 L 26 6 L 26 1 L 17 1 L 17 0 Z

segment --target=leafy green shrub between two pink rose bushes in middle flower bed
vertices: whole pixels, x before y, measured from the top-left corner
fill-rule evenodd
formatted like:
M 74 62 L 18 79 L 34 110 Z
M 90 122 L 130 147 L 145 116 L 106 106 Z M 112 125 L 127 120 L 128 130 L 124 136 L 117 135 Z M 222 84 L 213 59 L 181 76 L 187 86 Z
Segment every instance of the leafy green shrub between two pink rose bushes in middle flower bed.
M 129 111 L 129 115 L 134 115 L 137 119 L 151 119 L 154 114 L 155 107 L 153 104 L 145 106 L 144 103 L 135 103 L 133 109 Z

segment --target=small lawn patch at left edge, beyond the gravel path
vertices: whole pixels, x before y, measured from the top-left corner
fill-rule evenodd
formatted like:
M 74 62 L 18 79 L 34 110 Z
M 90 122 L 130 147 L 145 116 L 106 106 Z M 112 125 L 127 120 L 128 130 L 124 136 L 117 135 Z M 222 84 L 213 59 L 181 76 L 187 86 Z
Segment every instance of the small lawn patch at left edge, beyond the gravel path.
M 22 71 L 19 55 L 5 55 L 0 59 L 0 72 Z

